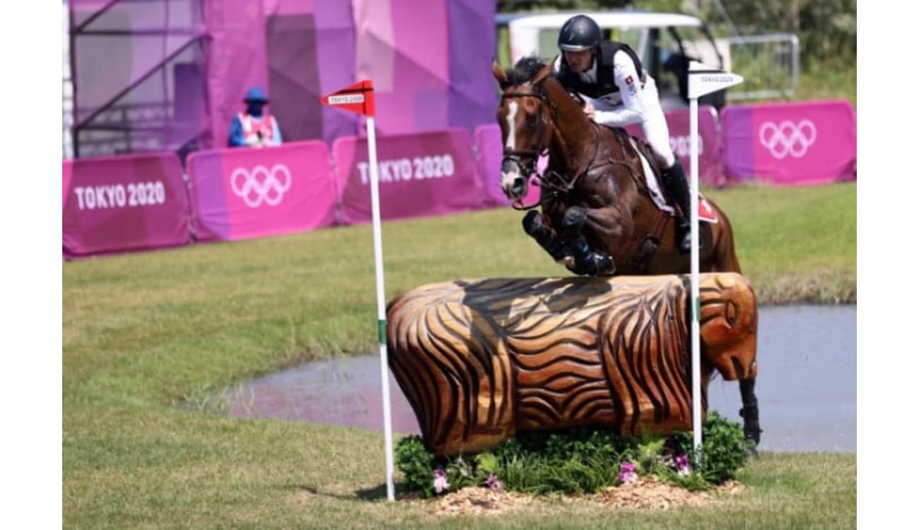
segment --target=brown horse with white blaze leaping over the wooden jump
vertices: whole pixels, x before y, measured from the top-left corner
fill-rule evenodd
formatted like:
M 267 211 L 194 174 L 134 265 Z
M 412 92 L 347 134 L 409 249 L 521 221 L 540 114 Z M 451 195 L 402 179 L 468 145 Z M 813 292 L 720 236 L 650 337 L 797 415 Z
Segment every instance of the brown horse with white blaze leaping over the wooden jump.
M 576 274 L 688 274 L 690 254 L 679 253 L 675 218 L 655 205 L 643 177 L 640 150 L 649 164 L 659 165 L 651 150 L 624 130 L 588 118 L 551 71 L 551 63 L 533 57 L 507 72 L 497 62 L 493 66 L 502 90 L 497 120 L 508 198 L 519 204 L 539 156 L 549 152 L 549 165 L 538 177 L 541 214 L 530 210 L 524 230 Z M 699 223 L 699 271 L 740 273 L 731 222 L 718 205 L 709 205 L 717 220 Z M 758 443 L 754 383 L 740 380 L 741 415 L 744 434 Z

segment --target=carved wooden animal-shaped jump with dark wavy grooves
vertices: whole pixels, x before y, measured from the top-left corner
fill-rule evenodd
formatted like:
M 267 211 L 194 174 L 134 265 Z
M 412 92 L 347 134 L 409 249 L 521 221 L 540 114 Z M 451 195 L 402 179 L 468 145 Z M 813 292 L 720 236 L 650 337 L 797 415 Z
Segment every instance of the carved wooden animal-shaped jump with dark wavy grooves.
M 754 291 L 701 275 L 702 406 L 713 370 L 756 376 Z M 692 428 L 689 276 L 459 280 L 388 308 L 389 364 L 437 455 L 518 432 Z

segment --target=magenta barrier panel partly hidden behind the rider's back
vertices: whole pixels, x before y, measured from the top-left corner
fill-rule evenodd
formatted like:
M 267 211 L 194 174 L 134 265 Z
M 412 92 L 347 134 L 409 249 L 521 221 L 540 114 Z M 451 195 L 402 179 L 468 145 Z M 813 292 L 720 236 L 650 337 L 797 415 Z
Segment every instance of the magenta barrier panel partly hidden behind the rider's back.
M 679 157 L 686 178 L 689 178 L 689 109 L 681 108 L 664 113 L 670 131 L 670 148 Z M 708 105 L 698 107 L 698 181 L 708 186 L 724 186 L 727 179 L 721 168 L 718 112 Z M 644 138 L 640 125 L 626 128 L 629 134 Z

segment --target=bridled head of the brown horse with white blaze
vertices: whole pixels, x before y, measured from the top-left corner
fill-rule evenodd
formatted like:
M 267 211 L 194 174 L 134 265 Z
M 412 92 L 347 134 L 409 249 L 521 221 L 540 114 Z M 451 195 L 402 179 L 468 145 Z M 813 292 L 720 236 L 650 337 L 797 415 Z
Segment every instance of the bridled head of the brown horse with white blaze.
M 519 200 L 527 195 L 529 177 L 536 173 L 539 155 L 551 140 L 550 104 L 541 84 L 552 65 L 525 57 L 507 72 L 494 62 L 492 72 L 502 92 L 497 114 L 505 146 L 501 189 L 507 198 Z

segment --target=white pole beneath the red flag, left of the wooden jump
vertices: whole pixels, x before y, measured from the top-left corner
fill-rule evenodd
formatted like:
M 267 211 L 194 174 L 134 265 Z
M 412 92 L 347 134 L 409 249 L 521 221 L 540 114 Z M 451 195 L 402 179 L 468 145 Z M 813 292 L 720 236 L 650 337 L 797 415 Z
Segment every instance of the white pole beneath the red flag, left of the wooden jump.
M 373 210 L 373 264 L 377 276 L 377 334 L 380 341 L 380 378 L 383 389 L 383 432 L 386 450 L 386 498 L 395 500 L 392 482 L 392 414 L 390 407 L 390 366 L 386 352 L 386 293 L 383 290 L 383 242 L 380 230 L 380 174 L 377 167 L 377 130 L 372 116 L 367 117 L 367 150 L 370 164 L 370 202 Z

